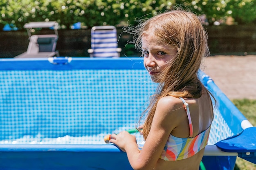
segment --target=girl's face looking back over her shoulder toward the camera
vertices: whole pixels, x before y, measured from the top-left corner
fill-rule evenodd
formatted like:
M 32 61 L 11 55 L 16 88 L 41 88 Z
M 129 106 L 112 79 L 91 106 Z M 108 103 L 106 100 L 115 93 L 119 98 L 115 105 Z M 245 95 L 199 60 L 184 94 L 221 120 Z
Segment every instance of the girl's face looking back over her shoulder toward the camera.
M 160 73 L 173 59 L 177 49 L 173 45 L 157 42 L 153 33 L 144 34 L 141 37 L 141 42 L 144 67 L 150 74 L 152 81 L 159 83 Z

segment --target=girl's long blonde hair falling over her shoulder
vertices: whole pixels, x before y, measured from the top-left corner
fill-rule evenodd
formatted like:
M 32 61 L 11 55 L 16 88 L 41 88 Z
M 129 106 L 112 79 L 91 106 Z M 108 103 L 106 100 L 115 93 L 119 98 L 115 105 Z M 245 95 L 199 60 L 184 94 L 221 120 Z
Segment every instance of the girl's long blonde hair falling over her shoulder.
M 150 98 L 150 105 L 143 126 L 147 138 L 155 114 L 157 102 L 164 96 L 200 98 L 207 89 L 198 79 L 203 57 L 209 55 L 207 34 L 198 16 L 181 9 L 168 11 L 141 22 L 133 30 L 134 43 L 141 49 L 141 37 L 150 31 L 158 42 L 174 45 L 177 54 L 168 62 L 160 77 L 159 86 Z M 209 93 L 207 92 L 209 95 Z M 141 120 L 140 120 L 141 121 Z

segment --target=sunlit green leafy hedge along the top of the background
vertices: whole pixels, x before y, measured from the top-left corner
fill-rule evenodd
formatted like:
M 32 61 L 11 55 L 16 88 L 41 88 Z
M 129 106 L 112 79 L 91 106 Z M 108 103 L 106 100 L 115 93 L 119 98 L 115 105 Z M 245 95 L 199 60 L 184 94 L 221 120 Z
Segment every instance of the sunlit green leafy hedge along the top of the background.
M 32 21 L 57 21 L 62 28 L 76 22 L 96 25 L 136 24 L 173 6 L 188 7 L 206 15 L 209 24 L 232 16 L 239 24 L 256 21 L 254 0 L 1 0 L 0 24 L 22 28 Z

